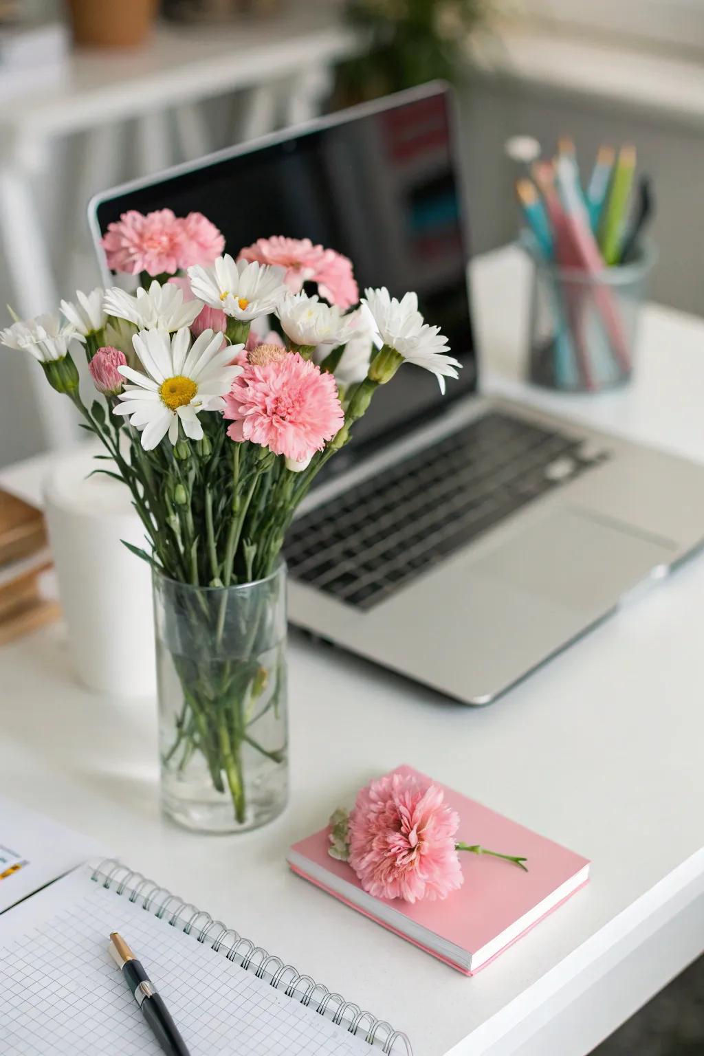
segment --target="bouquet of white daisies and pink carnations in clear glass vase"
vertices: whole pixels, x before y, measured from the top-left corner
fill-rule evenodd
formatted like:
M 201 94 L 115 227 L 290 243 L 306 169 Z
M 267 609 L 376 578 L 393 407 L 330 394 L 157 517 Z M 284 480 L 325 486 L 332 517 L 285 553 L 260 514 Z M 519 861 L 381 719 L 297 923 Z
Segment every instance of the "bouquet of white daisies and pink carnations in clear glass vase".
M 281 549 L 297 507 L 404 362 L 441 388 L 459 363 L 415 294 L 358 304 L 351 263 L 308 240 L 223 256 L 205 216 L 163 209 L 123 214 L 103 247 L 134 294 L 78 291 L 0 341 L 74 402 L 106 449 L 96 472 L 127 485 L 144 524 L 130 549 L 153 569 L 167 813 L 252 828 L 287 794 Z

